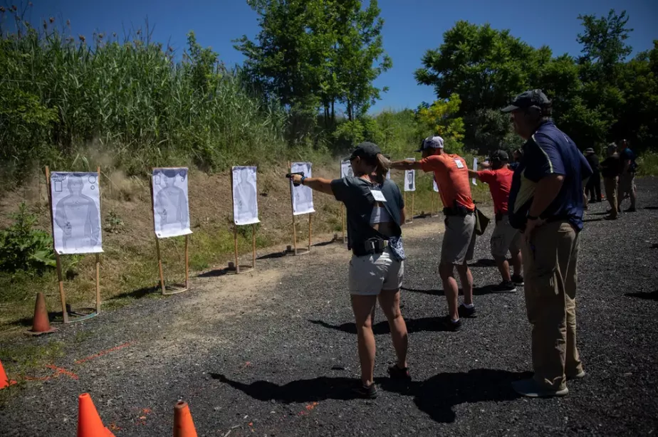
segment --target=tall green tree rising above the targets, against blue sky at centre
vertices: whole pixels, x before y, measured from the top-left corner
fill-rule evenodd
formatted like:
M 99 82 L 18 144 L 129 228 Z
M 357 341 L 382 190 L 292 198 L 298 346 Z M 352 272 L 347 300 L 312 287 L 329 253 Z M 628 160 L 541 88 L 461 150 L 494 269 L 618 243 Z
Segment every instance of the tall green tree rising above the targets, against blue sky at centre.
M 365 9 L 358 0 L 247 3 L 258 13 L 261 31 L 255 41 L 239 38 L 235 47 L 246 57 L 251 80 L 291 110 L 293 131 L 313 128 L 308 120 L 315 120 L 320 107 L 330 126 L 337 102 L 354 121 L 380 98 L 383 89 L 373 81 L 392 64 L 383 50 L 376 0 Z

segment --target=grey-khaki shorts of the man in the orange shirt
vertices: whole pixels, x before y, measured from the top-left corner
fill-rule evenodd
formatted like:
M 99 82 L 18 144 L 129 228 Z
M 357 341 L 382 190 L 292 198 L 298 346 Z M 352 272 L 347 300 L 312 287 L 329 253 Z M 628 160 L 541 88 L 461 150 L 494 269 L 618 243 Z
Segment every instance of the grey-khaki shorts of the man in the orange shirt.
M 441 246 L 442 264 L 464 264 L 475 250 L 475 214 L 446 216 L 446 233 Z

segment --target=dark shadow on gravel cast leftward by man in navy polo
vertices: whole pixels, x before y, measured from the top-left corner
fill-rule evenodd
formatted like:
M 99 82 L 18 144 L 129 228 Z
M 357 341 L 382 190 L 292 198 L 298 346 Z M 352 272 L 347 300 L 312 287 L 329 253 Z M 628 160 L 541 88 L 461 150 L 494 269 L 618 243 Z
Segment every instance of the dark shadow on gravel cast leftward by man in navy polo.
M 519 396 L 512 389 L 512 381 L 530 377 L 532 372 L 473 369 L 469 372 L 437 374 L 426 381 L 401 383 L 382 379 L 377 382 L 386 391 L 414 396 L 414 404 L 432 420 L 451 423 L 456 418 L 454 406 L 517 399 Z

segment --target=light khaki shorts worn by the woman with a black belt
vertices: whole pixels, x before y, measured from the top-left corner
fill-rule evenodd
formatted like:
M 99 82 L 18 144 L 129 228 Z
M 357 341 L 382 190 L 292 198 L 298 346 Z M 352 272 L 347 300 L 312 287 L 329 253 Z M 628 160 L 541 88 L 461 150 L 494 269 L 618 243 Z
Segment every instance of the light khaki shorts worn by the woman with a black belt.
M 398 290 L 402 287 L 403 276 L 404 261 L 393 258 L 389 248 L 375 255 L 352 255 L 350 294 L 376 296 L 382 290 Z

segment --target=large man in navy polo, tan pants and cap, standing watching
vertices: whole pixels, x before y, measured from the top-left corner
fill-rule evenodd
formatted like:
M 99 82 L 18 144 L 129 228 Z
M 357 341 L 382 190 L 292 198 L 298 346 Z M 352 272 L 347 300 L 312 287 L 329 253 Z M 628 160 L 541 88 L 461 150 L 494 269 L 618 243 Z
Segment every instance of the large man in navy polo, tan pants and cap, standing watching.
M 503 109 L 526 140 L 509 196 L 510 223 L 523 232 L 526 309 L 535 374 L 516 381 L 523 396 L 565 396 L 585 376 L 575 344 L 576 265 L 583 228 L 583 179 L 592 169 L 550 120 L 550 100 L 526 91 Z

